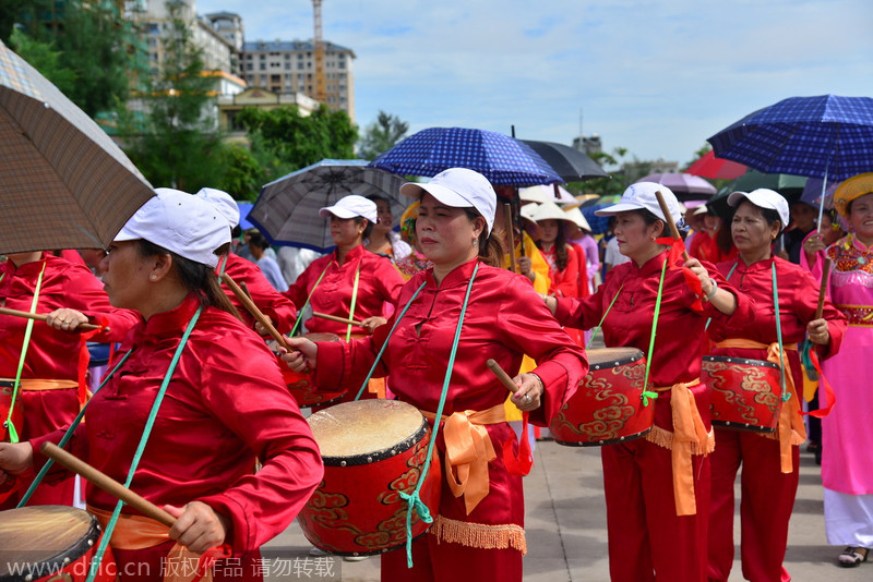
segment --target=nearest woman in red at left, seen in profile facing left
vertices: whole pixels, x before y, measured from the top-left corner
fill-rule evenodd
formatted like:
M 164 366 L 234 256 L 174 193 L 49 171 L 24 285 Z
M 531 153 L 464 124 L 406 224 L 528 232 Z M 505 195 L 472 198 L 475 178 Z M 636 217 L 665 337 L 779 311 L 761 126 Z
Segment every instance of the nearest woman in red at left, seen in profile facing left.
M 135 310 L 140 322 L 119 351 L 120 368 L 76 427 L 72 451 L 124 482 L 166 384 L 131 486 L 178 517 L 168 531 L 124 508 L 111 542 L 122 581 L 163 580 L 175 543 L 198 554 L 229 544 L 240 561 L 226 569 L 218 562 L 215 579 L 260 580 L 258 547 L 290 523 L 322 477 L 318 446 L 275 356 L 227 311 L 214 269 L 215 250 L 224 251 L 229 234 L 204 201 L 162 190 L 100 264 L 112 304 Z M 0 469 L 43 464 L 39 446 L 60 436 L 0 445 Z M 263 465 L 256 473 L 255 460 Z M 104 523 L 116 506 L 93 486 L 87 501 Z

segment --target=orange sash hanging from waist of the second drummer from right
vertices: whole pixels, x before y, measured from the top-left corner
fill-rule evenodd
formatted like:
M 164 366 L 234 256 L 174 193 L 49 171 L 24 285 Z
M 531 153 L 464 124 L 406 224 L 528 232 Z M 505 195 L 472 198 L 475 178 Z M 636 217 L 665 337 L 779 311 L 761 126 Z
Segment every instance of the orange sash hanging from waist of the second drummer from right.
M 670 409 L 673 413 L 673 500 L 677 516 L 694 516 L 697 513 L 697 501 L 694 498 L 694 469 L 692 454 L 706 452 L 709 433 L 703 423 L 694 393 L 689 389 L 701 384 L 694 379 L 677 383 L 666 388 L 655 388 L 656 392 L 672 391 Z

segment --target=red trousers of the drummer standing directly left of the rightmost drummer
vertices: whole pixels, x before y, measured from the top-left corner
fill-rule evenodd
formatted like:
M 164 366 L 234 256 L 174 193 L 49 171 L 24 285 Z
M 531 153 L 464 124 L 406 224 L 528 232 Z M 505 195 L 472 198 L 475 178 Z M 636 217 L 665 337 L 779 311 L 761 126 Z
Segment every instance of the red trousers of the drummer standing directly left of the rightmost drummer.
M 602 448 L 612 582 L 706 579 L 709 460 L 692 458 L 697 513 L 679 517 L 671 454 L 644 438 Z

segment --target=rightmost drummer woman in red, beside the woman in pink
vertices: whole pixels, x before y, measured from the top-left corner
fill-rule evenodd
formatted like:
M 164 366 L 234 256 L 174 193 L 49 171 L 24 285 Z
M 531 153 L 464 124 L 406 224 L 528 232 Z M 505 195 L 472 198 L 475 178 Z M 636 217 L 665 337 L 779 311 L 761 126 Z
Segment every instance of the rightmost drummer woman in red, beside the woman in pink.
M 790 398 L 782 403 L 776 433 L 716 428 L 716 450 L 710 458 L 709 512 L 710 581 L 727 581 L 733 565 L 733 482 L 742 464 L 741 553 L 743 578 L 753 582 L 791 577 L 782 567 L 788 543 L 788 521 L 798 489 L 799 445 L 806 438 L 800 409 L 803 379 L 798 343 L 809 335 L 821 359 L 839 350 L 846 318 L 829 301 L 823 318 L 815 319 L 818 283 L 803 267 L 773 256 L 773 242 L 789 221 L 788 203 L 778 193 L 758 189 L 734 192 L 729 221 L 737 260 L 720 263 L 718 270 L 755 302 L 755 317 L 726 325 L 714 320 L 709 336 L 714 355 L 770 360 L 779 363 L 774 276 L 779 296 L 779 323 L 787 353 L 786 383 Z M 775 275 L 774 275 L 775 274 Z

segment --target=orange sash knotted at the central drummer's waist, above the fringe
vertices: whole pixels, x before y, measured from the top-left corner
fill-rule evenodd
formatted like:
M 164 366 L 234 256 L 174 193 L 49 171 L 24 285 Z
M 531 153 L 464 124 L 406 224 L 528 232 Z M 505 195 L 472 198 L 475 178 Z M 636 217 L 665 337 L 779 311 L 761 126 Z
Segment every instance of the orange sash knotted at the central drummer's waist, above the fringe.
M 432 412 L 421 411 L 433 420 Z M 497 459 L 487 424 L 506 422 L 503 403 L 488 410 L 465 410 L 443 417 L 445 440 L 445 478 L 455 497 L 464 496 L 467 514 L 485 499 L 490 490 L 488 463 Z

